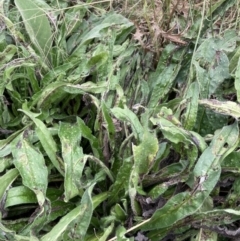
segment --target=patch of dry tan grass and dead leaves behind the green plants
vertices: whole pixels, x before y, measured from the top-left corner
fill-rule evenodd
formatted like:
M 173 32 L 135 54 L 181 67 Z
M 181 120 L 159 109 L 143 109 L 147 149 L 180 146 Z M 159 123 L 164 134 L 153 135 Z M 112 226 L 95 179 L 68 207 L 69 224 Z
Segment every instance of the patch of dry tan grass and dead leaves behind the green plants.
M 239 32 L 240 3 L 236 2 L 216 19 L 212 19 L 211 12 L 220 0 L 116 0 L 111 2 L 111 7 L 134 22 L 133 38 L 159 56 L 165 43 L 187 45 L 196 39 L 199 27 L 196 22 L 204 18 L 210 21 L 211 35 L 222 35 L 227 29 Z

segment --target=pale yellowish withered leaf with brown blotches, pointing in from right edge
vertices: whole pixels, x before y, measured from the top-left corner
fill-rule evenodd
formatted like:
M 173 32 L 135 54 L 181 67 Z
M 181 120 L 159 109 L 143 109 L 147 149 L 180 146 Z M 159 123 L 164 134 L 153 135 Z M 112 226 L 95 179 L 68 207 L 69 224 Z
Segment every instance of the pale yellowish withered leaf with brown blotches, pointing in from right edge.
M 232 101 L 219 101 L 215 99 L 199 100 L 199 104 L 223 115 L 230 115 L 235 119 L 240 117 L 240 105 Z

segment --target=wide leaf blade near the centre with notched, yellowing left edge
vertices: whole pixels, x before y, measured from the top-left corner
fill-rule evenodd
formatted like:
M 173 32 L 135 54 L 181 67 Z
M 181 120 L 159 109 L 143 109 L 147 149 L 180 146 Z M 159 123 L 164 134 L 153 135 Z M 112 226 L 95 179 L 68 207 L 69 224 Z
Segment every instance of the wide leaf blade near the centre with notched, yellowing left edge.
M 140 145 L 133 145 L 134 167 L 139 174 L 146 174 L 157 154 L 158 139 L 156 135 L 144 132 Z

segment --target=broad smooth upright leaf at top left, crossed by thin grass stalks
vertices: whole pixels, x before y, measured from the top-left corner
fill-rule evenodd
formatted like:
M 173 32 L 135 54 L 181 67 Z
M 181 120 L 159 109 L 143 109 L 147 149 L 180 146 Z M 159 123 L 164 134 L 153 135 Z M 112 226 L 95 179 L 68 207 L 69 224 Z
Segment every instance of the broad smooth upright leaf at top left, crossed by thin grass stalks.
M 46 12 L 32 0 L 15 0 L 27 33 L 43 58 L 49 56 L 53 35 Z

